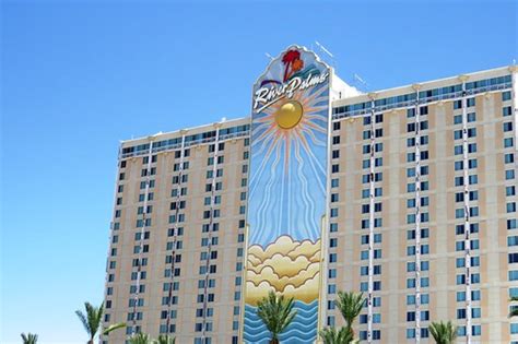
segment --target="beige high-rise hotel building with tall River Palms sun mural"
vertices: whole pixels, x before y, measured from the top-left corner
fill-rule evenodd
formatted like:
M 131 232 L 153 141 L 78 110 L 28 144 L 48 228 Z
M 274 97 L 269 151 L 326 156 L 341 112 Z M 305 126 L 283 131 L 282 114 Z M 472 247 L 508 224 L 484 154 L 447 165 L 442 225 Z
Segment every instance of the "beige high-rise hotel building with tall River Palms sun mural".
M 104 323 L 178 343 L 267 343 L 257 300 L 298 310 L 283 343 L 342 325 L 362 341 L 518 343 L 518 69 L 362 93 L 292 46 L 250 117 L 123 141 Z M 518 306 L 518 304 L 516 305 Z

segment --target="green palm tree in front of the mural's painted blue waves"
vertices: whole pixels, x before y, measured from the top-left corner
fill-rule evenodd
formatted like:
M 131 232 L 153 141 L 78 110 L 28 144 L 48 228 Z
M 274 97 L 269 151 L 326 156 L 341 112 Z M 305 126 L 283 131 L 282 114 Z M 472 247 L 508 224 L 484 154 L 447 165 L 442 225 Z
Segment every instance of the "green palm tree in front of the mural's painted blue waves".
M 257 315 L 272 334 L 270 344 L 279 344 L 279 334 L 287 328 L 296 313 L 293 310 L 293 297 L 284 299 L 284 295 L 276 296 L 274 292 L 270 292 L 257 304 Z

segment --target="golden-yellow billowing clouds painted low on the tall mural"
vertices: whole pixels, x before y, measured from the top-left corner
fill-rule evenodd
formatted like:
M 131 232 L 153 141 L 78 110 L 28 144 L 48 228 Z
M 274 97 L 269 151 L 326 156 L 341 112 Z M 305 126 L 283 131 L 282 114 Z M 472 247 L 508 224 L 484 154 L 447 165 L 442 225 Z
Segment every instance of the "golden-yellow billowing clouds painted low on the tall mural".
M 293 241 L 281 236 L 266 250 L 248 248 L 246 303 L 256 305 L 274 289 L 306 304 L 318 298 L 320 283 L 320 240 Z

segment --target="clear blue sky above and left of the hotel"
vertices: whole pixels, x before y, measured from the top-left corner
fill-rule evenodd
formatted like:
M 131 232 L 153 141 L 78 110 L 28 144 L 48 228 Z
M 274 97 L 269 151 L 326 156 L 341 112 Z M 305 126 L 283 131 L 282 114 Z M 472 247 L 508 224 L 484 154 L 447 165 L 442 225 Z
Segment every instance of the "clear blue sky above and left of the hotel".
M 118 140 L 247 116 L 266 52 L 318 40 L 369 90 L 517 58 L 510 0 L 246 2 L 1 3 L 1 343 L 86 341 Z

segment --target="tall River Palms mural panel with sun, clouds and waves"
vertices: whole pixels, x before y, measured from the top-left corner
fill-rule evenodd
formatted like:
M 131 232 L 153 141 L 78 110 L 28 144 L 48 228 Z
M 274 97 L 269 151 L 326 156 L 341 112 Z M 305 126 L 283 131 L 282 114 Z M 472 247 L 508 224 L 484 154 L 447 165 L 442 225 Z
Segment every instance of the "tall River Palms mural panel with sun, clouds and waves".
M 317 339 L 330 78 L 314 52 L 292 46 L 254 86 L 245 343 L 270 339 L 256 312 L 270 290 L 295 298 L 281 342 Z

